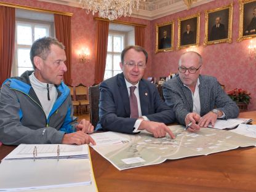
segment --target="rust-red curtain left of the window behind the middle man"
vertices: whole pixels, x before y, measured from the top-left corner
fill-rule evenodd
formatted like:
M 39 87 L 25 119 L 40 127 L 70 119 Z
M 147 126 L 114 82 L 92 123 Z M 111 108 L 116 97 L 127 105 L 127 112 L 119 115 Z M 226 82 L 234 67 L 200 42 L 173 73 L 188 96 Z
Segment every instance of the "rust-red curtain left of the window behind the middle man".
M 108 50 L 108 23 L 97 20 L 96 31 L 96 65 L 95 65 L 95 84 L 103 81 L 106 67 L 106 53 Z

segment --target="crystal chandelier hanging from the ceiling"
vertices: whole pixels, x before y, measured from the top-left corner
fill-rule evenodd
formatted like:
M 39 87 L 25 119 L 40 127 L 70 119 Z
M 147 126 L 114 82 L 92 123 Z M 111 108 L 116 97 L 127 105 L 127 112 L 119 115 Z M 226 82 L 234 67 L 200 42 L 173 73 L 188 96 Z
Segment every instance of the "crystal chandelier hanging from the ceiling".
M 130 16 L 134 8 L 138 10 L 140 0 L 79 0 L 79 3 L 87 14 L 98 12 L 99 17 L 115 20 L 122 15 Z

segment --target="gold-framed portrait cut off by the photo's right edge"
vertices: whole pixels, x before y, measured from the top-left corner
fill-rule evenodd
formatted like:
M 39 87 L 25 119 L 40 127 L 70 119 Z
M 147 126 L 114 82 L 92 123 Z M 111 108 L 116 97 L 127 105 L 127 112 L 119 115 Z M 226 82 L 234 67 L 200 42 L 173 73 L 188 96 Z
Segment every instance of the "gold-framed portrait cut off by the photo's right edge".
M 244 39 L 256 37 L 256 21 L 254 20 L 254 8 L 256 7 L 256 0 L 239 0 L 239 34 L 238 42 Z M 256 12 L 256 10 L 255 10 Z M 255 13 L 256 14 L 256 13 Z M 251 27 L 254 27 L 252 31 Z M 252 31 L 252 32 L 251 32 Z

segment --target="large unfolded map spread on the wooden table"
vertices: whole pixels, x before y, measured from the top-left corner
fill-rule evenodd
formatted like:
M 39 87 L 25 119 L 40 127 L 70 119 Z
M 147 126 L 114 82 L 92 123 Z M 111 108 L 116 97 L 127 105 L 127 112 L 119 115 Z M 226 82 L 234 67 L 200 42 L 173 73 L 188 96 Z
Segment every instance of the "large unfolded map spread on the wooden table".
M 256 146 L 256 139 L 235 134 L 227 130 L 202 128 L 193 133 L 184 131 L 183 126 L 169 126 L 176 135 L 154 138 L 148 132 L 137 135 L 118 134 L 129 142 L 111 145 L 96 145 L 94 150 L 113 164 L 117 169 L 124 170 L 134 167 L 159 164 L 166 159 L 179 159 L 190 156 L 207 155 L 228 151 L 239 146 Z M 102 133 L 104 134 L 104 133 Z M 108 132 L 111 134 L 111 132 Z

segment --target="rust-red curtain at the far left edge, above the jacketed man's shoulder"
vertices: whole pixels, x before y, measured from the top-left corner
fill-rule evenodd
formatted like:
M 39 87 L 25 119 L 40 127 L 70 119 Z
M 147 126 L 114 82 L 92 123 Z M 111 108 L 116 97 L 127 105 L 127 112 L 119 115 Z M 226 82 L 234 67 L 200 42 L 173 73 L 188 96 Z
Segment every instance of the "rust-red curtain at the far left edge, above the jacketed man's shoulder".
M 0 87 L 12 71 L 14 38 L 15 8 L 0 6 Z

